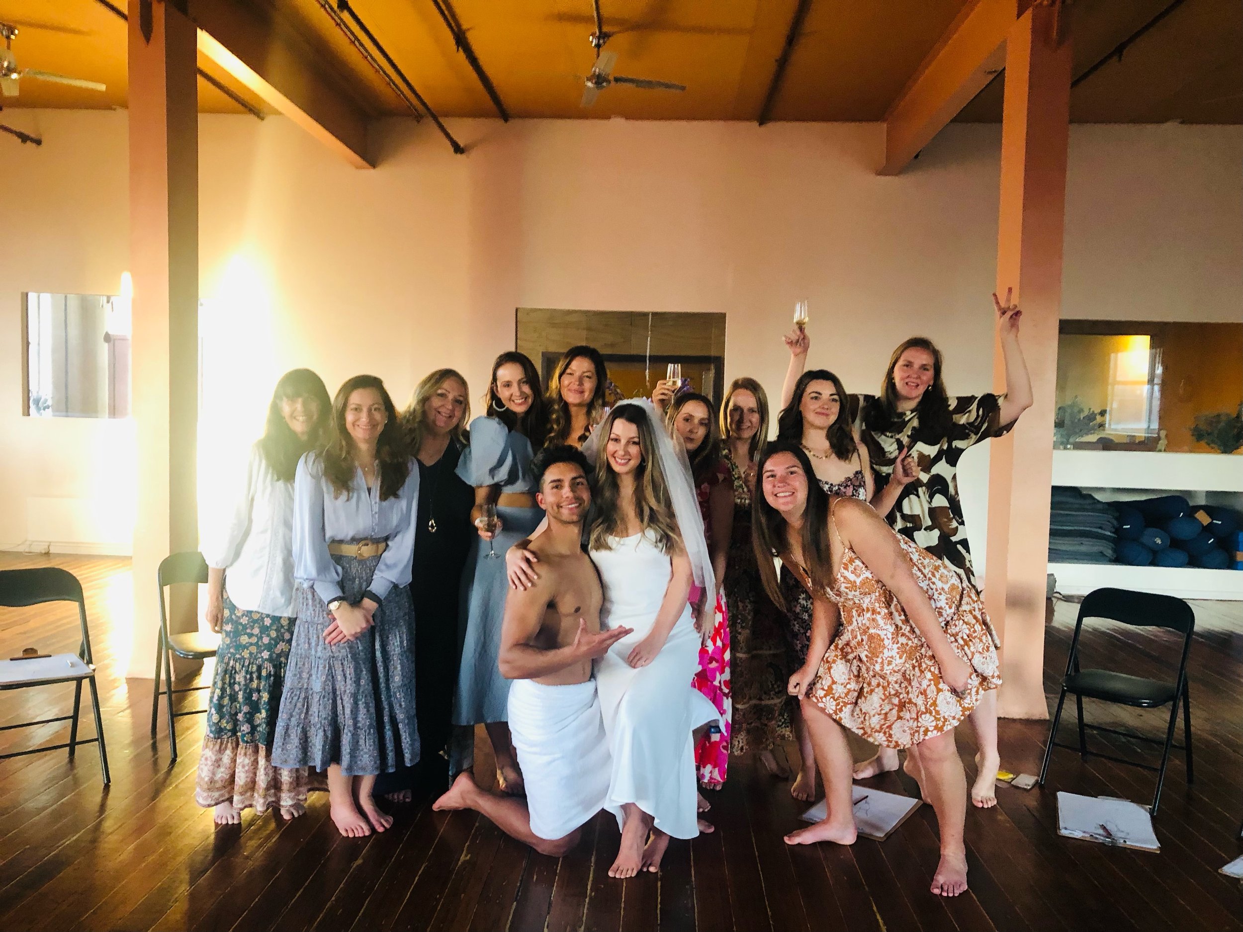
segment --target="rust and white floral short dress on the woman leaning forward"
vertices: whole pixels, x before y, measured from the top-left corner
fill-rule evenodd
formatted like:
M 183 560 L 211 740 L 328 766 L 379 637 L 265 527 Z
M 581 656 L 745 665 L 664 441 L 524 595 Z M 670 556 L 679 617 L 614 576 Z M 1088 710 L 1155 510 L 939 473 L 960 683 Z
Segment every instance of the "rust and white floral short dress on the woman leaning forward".
M 901 534 L 897 539 L 946 637 L 972 675 L 961 693 L 945 683 L 932 650 L 901 603 L 848 547 L 828 590 L 842 625 L 820 661 L 810 697 L 850 731 L 888 748 L 907 748 L 950 731 L 1002 682 L 997 636 L 975 587 Z

